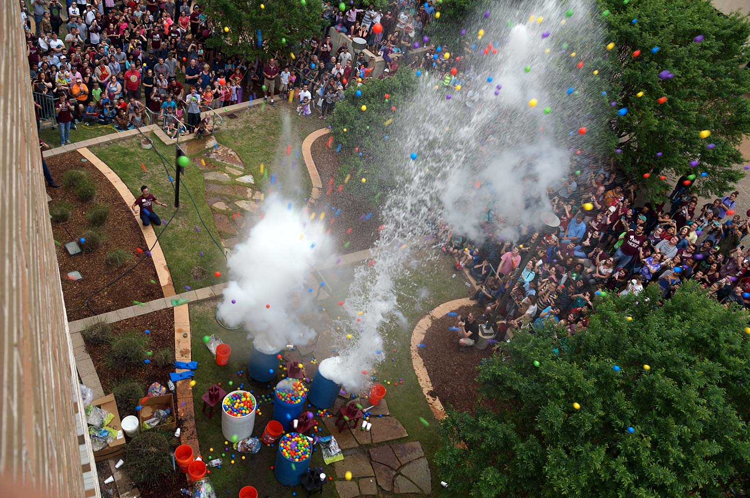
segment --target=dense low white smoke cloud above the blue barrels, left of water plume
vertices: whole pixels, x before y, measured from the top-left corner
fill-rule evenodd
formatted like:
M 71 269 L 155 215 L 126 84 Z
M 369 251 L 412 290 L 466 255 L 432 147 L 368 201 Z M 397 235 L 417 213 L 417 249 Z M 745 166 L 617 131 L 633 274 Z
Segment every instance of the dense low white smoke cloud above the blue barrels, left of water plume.
M 230 280 L 218 317 L 230 327 L 244 326 L 257 350 L 275 353 L 316 338 L 303 318 L 317 309 L 318 284 L 309 275 L 331 258 L 332 241 L 324 220 L 310 220 L 281 196 L 267 197 L 264 208 L 263 219 L 229 257 Z

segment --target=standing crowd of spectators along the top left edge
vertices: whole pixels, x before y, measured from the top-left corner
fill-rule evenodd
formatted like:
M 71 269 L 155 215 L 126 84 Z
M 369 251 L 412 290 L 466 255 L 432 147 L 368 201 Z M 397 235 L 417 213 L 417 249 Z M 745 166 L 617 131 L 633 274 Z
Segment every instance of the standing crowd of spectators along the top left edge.
M 27 5 L 28 2 L 28 5 Z M 214 26 L 195 0 L 20 0 L 37 126 L 54 121 L 61 145 L 77 125 L 126 130 L 158 123 L 169 136 L 205 133 L 201 113 L 263 94 L 275 104 L 290 92 L 297 110 L 330 115 L 349 85 L 363 84 L 373 65 L 349 43 L 335 49 L 330 28 L 363 37 L 386 59 L 382 77 L 434 16 L 432 1 L 392 0 L 388 9 L 341 11 L 324 2 L 328 23 L 293 59 L 227 57 L 206 46 Z M 289 56 L 285 54 L 285 56 Z M 204 114 L 205 115 L 205 114 Z M 201 124 L 202 123 L 202 124 Z

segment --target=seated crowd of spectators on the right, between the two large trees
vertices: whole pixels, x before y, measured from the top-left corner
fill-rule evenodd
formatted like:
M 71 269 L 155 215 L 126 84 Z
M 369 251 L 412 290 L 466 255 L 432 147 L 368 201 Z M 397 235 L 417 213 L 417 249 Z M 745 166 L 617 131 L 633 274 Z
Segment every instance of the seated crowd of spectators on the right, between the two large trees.
M 586 329 L 596 295 L 637 294 L 648 285 L 669 299 L 690 280 L 724 305 L 750 306 L 750 250 L 742 245 L 750 211 L 735 212 L 737 191 L 699 205 L 683 177 L 654 205 L 639 202 L 635 185 L 613 167 L 576 167 L 582 175 L 549 192 L 559 231 L 498 241 L 493 233 L 502 227 L 501 213 L 490 216 L 484 241 L 468 241 L 443 226 L 443 251 L 478 285 L 471 299 L 481 311 L 459 317 L 460 345 L 475 344 L 481 323 L 493 326 L 496 339 L 518 329 L 534 332 L 545 320 L 574 335 Z

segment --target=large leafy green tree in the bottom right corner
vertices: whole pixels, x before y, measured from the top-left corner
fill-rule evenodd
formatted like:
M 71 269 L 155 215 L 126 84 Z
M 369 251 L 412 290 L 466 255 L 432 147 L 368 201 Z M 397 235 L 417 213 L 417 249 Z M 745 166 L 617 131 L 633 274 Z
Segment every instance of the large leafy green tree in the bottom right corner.
M 522 332 L 479 368 L 476 416 L 443 421 L 445 496 L 748 490 L 747 314 L 689 283 L 663 304 L 656 286 L 598 301 L 585 332 Z

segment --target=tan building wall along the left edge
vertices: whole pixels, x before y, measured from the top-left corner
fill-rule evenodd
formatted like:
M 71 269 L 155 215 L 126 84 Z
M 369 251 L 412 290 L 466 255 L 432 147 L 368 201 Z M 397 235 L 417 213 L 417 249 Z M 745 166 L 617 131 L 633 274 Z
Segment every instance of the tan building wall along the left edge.
M 96 496 L 20 19 L 17 0 L 0 1 L 0 477 L 41 496 Z

